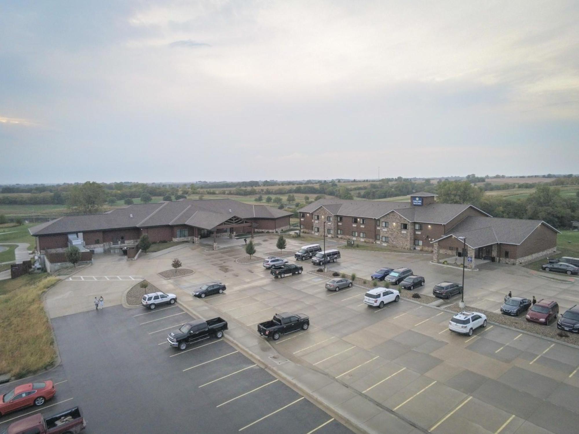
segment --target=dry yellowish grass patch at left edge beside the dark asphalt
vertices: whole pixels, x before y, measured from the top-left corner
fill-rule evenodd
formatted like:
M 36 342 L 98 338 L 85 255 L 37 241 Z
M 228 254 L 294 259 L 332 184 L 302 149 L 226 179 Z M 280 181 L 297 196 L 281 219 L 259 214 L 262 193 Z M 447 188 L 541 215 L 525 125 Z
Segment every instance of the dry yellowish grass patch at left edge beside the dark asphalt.
M 0 281 L 0 373 L 23 378 L 54 363 L 52 329 L 41 296 L 58 278 L 46 276 Z

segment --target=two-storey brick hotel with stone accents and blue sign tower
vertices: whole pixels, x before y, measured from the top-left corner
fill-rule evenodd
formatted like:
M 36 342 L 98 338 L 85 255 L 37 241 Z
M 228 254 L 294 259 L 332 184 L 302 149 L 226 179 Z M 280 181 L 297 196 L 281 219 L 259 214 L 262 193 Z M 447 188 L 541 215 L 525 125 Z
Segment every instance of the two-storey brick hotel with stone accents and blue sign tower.
M 558 231 L 545 222 L 496 219 L 473 205 L 437 203 L 435 197 L 432 193 L 419 192 L 411 196 L 410 202 L 324 198 L 299 209 L 300 227 L 305 233 L 319 236 L 325 231 L 330 238 L 430 251 L 435 260 L 442 254 L 457 252 L 458 241 L 454 236 L 457 230 L 467 233 L 469 238 L 474 238 L 472 231 L 490 234 L 492 228 L 501 234 L 499 238 L 489 235 L 472 241 L 469 256 L 474 258 L 494 256 L 503 262 L 520 264 L 555 251 Z M 508 233 L 517 236 L 507 237 Z

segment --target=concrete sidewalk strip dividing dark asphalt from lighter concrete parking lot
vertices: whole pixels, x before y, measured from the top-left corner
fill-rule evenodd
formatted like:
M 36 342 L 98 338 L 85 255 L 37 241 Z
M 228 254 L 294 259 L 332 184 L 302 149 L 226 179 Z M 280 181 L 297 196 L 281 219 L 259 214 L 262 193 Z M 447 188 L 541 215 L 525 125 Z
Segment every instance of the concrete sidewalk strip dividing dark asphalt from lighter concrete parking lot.
M 360 433 L 388 432 L 426 433 L 423 428 L 387 409 L 366 395 L 348 387 L 328 374 L 303 366 L 280 355 L 256 330 L 241 325 L 227 314 L 219 312 L 200 299 L 192 297 L 172 281 L 149 279 L 160 290 L 177 295 L 179 306 L 196 318 L 221 316 L 228 321 L 228 340 L 254 363 L 268 370 L 288 386 L 302 393 L 310 401 L 327 411 L 336 420 Z

